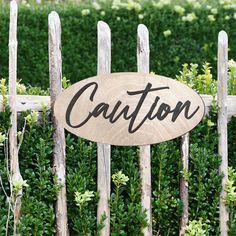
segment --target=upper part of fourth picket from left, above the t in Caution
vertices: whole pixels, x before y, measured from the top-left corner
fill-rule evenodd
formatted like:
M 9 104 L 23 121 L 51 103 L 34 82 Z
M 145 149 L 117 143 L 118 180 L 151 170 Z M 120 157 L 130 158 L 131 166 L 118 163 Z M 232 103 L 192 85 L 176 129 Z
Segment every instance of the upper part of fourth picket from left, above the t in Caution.
M 149 32 L 145 25 L 138 26 L 137 60 L 138 72 L 149 73 Z

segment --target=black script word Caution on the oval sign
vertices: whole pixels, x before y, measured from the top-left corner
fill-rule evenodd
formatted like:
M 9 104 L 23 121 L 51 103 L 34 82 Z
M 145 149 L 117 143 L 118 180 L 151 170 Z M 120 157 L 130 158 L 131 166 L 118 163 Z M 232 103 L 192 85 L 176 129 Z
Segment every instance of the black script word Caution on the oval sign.
M 101 103 L 97 104 L 95 106 L 95 108 L 93 108 L 92 111 L 88 112 L 87 117 L 81 123 L 71 124 L 70 116 L 71 116 L 71 112 L 73 110 L 75 103 L 79 100 L 80 96 L 90 87 L 92 87 L 93 90 L 90 94 L 89 100 L 91 102 L 93 102 L 94 96 L 98 90 L 98 84 L 96 82 L 88 83 L 84 87 L 82 87 L 74 95 L 74 97 L 72 98 L 72 100 L 70 101 L 70 103 L 67 107 L 66 123 L 72 128 L 80 128 L 83 125 L 85 125 L 92 117 L 97 118 L 101 115 L 104 119 L 108 120 L 111 124 L 118 121 L 121 117 L 123 117 L 123 119 L 125 119 L 125 120 L 129 120 L 128 132 L 135 133 L 145 123 L 146 120 L 158 119 L 158 120 L 162 121 L 169 114 L 172 114 L 171 121 L 175 122 L 176 119 L 181 114 L 181 112 L 184 112 L 184 117 L 186 119 L 191 119 L 200 108 L 198 106 L 191 114 L 189 114 L 189 110 L 190 110 L 190 106 L 191 106 L 191 102 L 189 100 L 187 100 L 184 103 L 181 101 L 178 101 L 174 109 L 171 109 L 170 105 L 166 104 L 166 103 L 161 103 L 159 105 L 159 107 L 157 107 L 158 102 L 160 101 L 160 97 L 156 96 L 148 113 L 146 115 L 144 115 L 142 120 L 137 124 L 137 122 L 136 122 L 137 116 L 140 113 L 140 110 L 141 110 L 143 104 L 145 104 L 145 99 L 147 98 L 148 94 L 151 92 L 154 92 L 154 91 L 170 89 L 168 86 L 152 88 L 152 84 L 147 83 L 146 87 L 143 90 L 127 91 L 127 94 L 129 96 L 141 95 L 133 112 L 129 112 L 130 106 L 123 105 L 120 100 L 117 101 L 115 106 L 111 109 L 110 109 L 110 105 L 108 103 L 101 102 Z M 157 108 L 157 111 L 154 113 L 156 108 Z M 110 111 L 109 111 L 109 109 L 110 109 Z

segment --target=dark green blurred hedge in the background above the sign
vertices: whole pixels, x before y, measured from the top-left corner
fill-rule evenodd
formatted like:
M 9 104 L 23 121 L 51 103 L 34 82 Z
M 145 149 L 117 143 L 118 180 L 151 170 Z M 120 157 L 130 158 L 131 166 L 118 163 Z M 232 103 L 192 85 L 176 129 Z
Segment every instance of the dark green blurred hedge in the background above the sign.
M 173 6 L 154 7 L 146 3 L 141 9 L 101 10 L 83 5 L 46 5 L 42 7 L 20 5 L 18 19 L 18 78 L 24 83 L 48 87 L 48 26 L 51 10 L 56 10 L 62 23 L 63 75 L 72 82 L 94 76 L 97 63 L 96 25 L 104 20 L 112 32 L 112 71 L 136 71 L 136 30 L 144 23 L 150 31 L 151 71 L 174 76 L 183 63 L 210 62 L 215 73 L 217 35 L 224 29 L 229 34 L 229 58 L 236 57 L 236 30 L 234 10 L 218 6 L 218 13 L 201 7 L 185 6 L 180 15 Z M 84 15 L 84 9 L 90 13 Z M 183 21 L 194 12 L 197 19 Z M 215 21 L 209 20 L 209 15 Z M 143 19 L 140 19 L 143 18 Z M 190 16 L 191 18 L 191 16 Z M 228 19 L 229 18 L 229 19 Z M 191 20 L 191 19 L 190 19 Z M 214 20 L 214 19 L 213 19 Z M 0 9 L 0 76 L 8 76 L 8 24 L 9 10 Z M 164 31 L 171 35 L 165 36 Z

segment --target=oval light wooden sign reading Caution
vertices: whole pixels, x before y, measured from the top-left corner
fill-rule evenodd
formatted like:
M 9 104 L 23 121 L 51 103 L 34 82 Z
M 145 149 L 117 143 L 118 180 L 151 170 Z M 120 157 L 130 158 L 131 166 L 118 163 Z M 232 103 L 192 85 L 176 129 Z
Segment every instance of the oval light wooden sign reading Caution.
M 73 134 L 99 143 L 136 146 L 174 139 L 204 115 L 201 97 L 163 76 L 114 73 L 64 90 L 55 116 Z

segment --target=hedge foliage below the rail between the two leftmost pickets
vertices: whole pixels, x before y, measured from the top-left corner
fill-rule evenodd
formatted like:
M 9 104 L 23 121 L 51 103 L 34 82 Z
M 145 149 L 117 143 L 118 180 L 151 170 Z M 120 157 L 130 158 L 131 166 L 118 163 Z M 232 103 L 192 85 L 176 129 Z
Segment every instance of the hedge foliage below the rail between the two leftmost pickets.
M 21 114 L 19 128 L 25 131 L 19 152 L 21 173 L 29 187 L 22 198 L 22 217 L 19 233 L 24 235 L 52 235 L 54 229 L 53 204 L 59 189 L 52 172 L 53 128 L 46 111 L 37 123 L 38 114 Z

